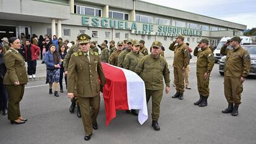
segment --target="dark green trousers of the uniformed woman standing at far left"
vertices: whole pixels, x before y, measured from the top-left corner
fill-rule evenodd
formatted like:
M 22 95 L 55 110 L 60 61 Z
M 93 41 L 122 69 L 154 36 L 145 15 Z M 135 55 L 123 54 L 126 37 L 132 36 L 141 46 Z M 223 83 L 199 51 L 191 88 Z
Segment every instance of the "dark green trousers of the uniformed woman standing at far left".
M 20 101 L 23 98 L 25 84 L 6 85 L 8 92 L 8 119 L 14 121 L 20 117 Z

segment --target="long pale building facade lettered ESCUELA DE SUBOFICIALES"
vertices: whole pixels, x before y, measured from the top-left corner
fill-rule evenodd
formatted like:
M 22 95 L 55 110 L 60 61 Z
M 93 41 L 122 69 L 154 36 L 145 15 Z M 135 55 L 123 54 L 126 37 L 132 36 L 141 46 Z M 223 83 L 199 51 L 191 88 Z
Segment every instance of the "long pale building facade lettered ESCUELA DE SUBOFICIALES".
M 139 0 L 0 0 L 0 38 L 57 35 L 73 40 L 79 32 L 104 40 L 155 40 L 164 48 L 182 34 L 191 47 L 207 38 L 216 46 L 223 36 L 243 35 L 246 25 Z M 171 56 L 171 51 L 165 51 Z

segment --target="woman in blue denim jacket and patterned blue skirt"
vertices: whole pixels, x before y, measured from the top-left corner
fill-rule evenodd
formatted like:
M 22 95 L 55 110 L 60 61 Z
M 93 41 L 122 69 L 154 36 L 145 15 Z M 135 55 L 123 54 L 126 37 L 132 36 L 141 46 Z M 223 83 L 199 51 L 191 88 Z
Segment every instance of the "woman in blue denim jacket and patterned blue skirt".
M 49 94 L 53 94 L 53 83 L 54 83 L 54 96 L 59 97 L 58 94 L 58 83 L 59 83 L 59 72 L 60 72 L 60 56 L 56 51 L 56 46 L 51 44 L 49 50 L 45 53 L 45 64 L 46 64 L 46 83 L 49 83 Z

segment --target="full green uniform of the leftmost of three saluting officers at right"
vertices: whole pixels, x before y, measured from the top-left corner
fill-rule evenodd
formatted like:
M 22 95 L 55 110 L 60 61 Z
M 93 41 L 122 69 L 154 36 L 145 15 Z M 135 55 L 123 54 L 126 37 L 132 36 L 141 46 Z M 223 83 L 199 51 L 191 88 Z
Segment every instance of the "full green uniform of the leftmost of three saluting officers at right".
M 176 91 L 179 93 L 184 93 L 184 75 L 182 72 L 182 68 L 186 69 L 187 65 L 189 65 L 189 49 L 187 49 L 187 45 L 171 43 L 169 49 L 174 51 L 174 84 L 176 85 Z

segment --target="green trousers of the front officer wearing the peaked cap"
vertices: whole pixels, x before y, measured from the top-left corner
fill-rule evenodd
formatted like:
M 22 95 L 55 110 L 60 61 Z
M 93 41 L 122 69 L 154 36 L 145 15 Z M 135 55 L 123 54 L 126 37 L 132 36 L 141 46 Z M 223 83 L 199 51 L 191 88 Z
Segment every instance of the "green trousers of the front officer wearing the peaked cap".
M 96 124 L 100 112 L 100 95 L 90 98 L 79 97 L 79 106 L 85 134 L 90 135 L 93 131 L 92 125 Z

